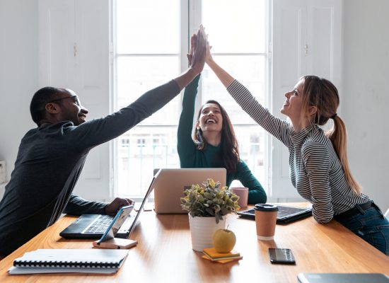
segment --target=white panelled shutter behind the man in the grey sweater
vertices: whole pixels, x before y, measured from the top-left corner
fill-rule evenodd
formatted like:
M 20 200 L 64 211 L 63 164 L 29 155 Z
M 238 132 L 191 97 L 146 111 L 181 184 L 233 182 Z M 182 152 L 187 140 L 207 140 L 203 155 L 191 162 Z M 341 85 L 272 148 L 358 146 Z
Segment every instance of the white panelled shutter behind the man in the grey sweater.
M 38 1 L 38 87 L 72 89 L 89 110 L 88 120 L 110 114 L 109 2 Z M 111 199 L 109 143 L 89 152 L 74 192 L 87 200 Z

